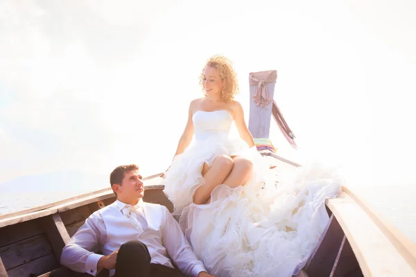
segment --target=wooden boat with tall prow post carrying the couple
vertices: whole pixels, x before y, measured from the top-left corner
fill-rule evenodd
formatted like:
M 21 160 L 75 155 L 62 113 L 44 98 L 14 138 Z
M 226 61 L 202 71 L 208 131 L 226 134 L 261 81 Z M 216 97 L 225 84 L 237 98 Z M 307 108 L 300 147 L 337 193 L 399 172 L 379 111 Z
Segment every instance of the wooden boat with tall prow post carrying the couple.
M 269 71 L 261 73 L 265 72 Z M 250 97 L 258 95 L 261 89 L 267 89 L 272 99 L 274 82 L 252 84 Z M 276 103 L 270 102 L 267 109 L 257 103 L 254 100 L 250 103 L 249 129 L 253 136 L 268 138 L 273 117 L 286 139 L 295 145 L 293 133 L 279 114 Z M 300 166 L 272 150 L 259 152 L 278 170 Z M 163 193 L 164 179 L 160 176 L 144 179 L 144 201 L 164 205 L 172 211 L 173 205 Z M 114 201 L 111 188 L 105 188 L 0 215 L 0 277 L 89 276 L 61 267 L 61 251 L 89 215 Z M 329 224 L 297 276 L 416 276 L 416 245 L 351 190 L 343 187 L 339 197 L 327 200 L 326 206 Z M 108 271 L 101 271 L 98 276 L 108 276 Z

